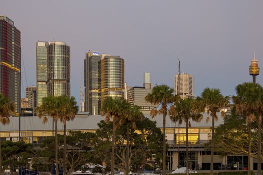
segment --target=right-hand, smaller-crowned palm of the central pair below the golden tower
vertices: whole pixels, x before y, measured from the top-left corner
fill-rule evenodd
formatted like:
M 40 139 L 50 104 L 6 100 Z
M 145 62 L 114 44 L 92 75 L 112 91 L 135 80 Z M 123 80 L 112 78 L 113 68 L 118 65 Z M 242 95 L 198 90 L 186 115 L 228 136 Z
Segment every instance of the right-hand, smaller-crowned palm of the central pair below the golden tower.
M 129 174 L 129 167 L 130 167 L 130 157 L 129 157 L 129 141 L 130 141 L 130 125 L 135 129 L 136 128 L 136 121 L 139 121 L 143 118 L 143 113 L 140 110 L 140 106 L 134 105 L 130 106 L 130 103 L 125 100 L 126 111 L 129 112 L 128 115 L 124 115 L 124 117 L 120 118 L 120 124 L 124 121 L 127 123 L 127 149 L 126 149 L 126 158 L 125 158 L 125 175 Z

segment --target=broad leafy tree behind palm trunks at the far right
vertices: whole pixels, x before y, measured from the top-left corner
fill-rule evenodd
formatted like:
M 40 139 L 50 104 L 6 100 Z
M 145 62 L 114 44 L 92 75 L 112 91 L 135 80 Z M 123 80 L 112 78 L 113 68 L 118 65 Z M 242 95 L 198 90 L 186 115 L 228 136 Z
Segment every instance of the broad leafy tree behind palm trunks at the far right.
M 247 129 L 246 116 L 236 113 L 235 106 L 230 114 L 224 117 L 223 124 L 216 128 L 215 132 L 215 151 L 220 155 L 248 155 L 248 142 L 251 140 L 250 157 L 256 158 L 257 145 L 256 132 L 250 132 L 251 137 L 248 138 L 249 130 Z M 251 123 L 251 128 L 256 129 L 256 124 Z M 208 145 L 209 146 L 209 145 Z M 249 164 L 248 164 L 249 166 Z

